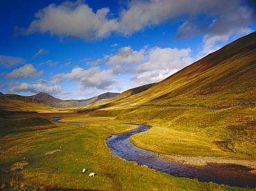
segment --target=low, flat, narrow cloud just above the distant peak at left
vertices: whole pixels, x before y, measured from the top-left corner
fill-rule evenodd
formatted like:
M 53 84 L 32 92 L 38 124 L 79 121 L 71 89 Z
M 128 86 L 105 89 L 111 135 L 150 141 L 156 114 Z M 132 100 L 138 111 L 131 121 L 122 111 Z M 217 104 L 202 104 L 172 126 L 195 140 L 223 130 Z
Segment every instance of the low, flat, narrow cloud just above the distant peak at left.
M 10 82 L 6 85 L 10 87 L 9 92 L 46 92 L 48 94 L 57 94 L 62 91 L 62 86 L 47 86 L 44 84 L 30 84 L 30 83 L 20 83 L 20 82 Z

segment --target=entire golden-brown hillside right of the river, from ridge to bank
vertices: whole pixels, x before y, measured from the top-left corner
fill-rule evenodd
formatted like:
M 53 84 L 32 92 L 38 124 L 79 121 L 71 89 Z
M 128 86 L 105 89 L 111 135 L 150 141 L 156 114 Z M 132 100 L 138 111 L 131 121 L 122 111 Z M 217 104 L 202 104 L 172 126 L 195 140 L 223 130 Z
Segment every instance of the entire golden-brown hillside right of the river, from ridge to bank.
M 238 105 L 256 103 L 255 79 L 256 32 L 144 92 L 130 97 L 124 95 L 123 100 L 108 104 L 114 106 L 95 110 L 91 116 L 117 117 L 127 123 L 153 125 L 153 130 L 136 134 L 131 140 L 154 152 L 256 159 L 256 109 L 253 105 Z M 200 104 L 233 106 L 216 110 Z M 237 154 L 230 151 L 230 125 L 243 129 L 236 142 Z M 185 137 L 192 139 L 184 141 Z M 165 141 L 160 141 L 163 139 Z

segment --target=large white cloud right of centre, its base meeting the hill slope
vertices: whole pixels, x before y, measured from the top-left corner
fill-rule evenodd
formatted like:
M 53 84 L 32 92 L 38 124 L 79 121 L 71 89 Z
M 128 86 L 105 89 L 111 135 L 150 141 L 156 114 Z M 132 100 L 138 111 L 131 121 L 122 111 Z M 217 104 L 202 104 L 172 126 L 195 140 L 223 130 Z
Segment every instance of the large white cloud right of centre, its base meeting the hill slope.
M 190 52 L 190 48 L 152 48 L 146 62 L 127 70 L 134 73 L 130 80 L 136 85 L 161 81 L 192 63 Z

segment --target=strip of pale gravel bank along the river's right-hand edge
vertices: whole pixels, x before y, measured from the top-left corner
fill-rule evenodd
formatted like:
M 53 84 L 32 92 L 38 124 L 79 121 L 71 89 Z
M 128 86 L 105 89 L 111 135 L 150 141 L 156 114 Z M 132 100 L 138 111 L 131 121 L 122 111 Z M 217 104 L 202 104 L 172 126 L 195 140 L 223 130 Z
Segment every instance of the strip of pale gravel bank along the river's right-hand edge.
M 204 166 L 208 163 L 225 163 L 225 164 L 236 164 L 244 165 L 248 168 L 253 168 L 250 170 L 251 173 L 256 174 L 256 161 L 253 160 L 242 160 L 242 159 L 232 159 L 226 157 L 187 157 L 181 155 L 169 155 L 169 154 L 160 154 L 162 159 L 167 159 L 176 163 L 183 163 L 185 165 L 197 165 Z

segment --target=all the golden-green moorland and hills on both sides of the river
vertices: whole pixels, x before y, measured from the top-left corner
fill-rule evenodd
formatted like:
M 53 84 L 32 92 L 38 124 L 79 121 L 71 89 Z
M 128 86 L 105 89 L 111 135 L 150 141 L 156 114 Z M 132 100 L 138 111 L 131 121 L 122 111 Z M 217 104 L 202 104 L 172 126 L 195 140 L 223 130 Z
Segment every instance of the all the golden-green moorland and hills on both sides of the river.
M 255 79 L 253 32 L 161 82 L 82 107 L 55 107 L 47 94 L 44 100 L 0 94 L 0 189 L 250 190 L 173 177 L 125 161 L 111 154 L 106 140 L 137 128 L 127 123 L 152 125 L 131 142 L 171 161 L 237 163 L 255 174 Z M 49 121 L 53 117 L 81 124 Z M 97 175 L 89 178 L 89 172 Z

